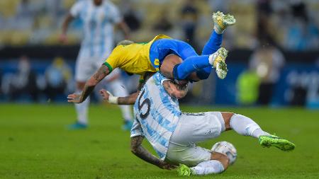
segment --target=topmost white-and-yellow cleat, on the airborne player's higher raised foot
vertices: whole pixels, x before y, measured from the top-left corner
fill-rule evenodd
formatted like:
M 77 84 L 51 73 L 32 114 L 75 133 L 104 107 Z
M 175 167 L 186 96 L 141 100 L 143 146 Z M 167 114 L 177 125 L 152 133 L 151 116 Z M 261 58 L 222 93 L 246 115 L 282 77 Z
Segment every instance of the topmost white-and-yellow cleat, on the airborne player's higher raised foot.
M 234 16 L 228 14 L 224 14 L 223 12 L 217 11 L 217 13 L 213 13 L 213 22 L 214 27 L 222 33 L 228 26 L 234 25 L 236 23 L 236 19 Z

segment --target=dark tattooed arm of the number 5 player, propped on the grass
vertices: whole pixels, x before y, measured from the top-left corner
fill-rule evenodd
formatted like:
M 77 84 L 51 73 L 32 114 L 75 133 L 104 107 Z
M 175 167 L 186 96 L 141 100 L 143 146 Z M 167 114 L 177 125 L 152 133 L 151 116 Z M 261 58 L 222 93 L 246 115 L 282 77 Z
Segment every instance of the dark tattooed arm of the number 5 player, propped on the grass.
M 162 161 L 156 156 L 153 156 L 152 154 L 150 154 L 149 151 L 147 151 L 144 147 L 142 147 L 142 141 L 143 141 L 142 136 L 136 136 L 136 137 L 130 138 L 130 151 L 132 151 L 132 153 L 135 156 L 138 156 L 143 161 L 152 163 L 153 165 L 162 169 L 171 170 L 176 168 L 176 166 L 166 163 L 165 161 Z

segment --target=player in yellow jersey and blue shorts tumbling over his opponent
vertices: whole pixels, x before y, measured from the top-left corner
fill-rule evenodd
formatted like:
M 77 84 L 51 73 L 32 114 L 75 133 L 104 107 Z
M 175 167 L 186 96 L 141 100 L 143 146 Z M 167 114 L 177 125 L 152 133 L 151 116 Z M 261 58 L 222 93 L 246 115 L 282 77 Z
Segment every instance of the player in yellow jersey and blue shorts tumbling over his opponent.
M 166 35 L 157 35 L 147 43 L 130 41 L 120 43 L 96 74 L 86 81 L 82 94 L 70 94 L 67 97 L 68 102 L 82 103 L 96 84 L 116 68 L 140 76 L 160 71 L 169 79 L 199 81 L 207 79 L 212 67 L 215 67 L 218 77 L 225 78 L 227 74 L 225 58 L 228 51 L 220 45 L 223 31 L 235 23 L 235 18 L 218 11 L 213 13 L 213 22 L 213 33 L 203 47 L 201 55 L 198 55 L 188 43 Z

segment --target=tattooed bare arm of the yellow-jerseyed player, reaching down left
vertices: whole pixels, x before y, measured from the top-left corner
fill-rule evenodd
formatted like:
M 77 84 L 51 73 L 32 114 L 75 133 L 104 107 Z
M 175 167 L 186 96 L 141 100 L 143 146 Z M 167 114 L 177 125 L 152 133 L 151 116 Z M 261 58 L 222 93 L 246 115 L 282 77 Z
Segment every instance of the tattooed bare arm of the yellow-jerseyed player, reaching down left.
M 86 81 L 82 94 L 70 94 L 67 96 L 67 102 L 82 103 L 94 90 L 96 84 L 104 79 L 109 73 L 110 71 L 108 70 L 108 67 L 105 64 L 102 64 L 100 69 L 96 71 L 96 74 L 91 76 L 91 78 Z

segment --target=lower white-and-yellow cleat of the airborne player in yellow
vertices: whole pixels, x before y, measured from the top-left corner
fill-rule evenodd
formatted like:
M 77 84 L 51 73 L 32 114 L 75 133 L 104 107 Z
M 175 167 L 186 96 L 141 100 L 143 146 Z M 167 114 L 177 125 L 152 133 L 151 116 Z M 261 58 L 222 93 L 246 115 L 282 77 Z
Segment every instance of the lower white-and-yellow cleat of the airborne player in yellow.
M 218 78 L 225 79 L 227 75 L 227 64 L 225 59 L 227 57 L 228 51 L 225 48 L 220 47 L 217 52 L 209 56 L 209 63 L 216 69 L 216 74 Z

